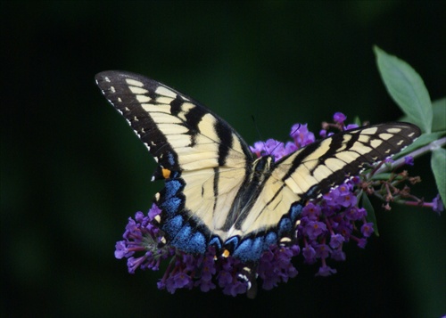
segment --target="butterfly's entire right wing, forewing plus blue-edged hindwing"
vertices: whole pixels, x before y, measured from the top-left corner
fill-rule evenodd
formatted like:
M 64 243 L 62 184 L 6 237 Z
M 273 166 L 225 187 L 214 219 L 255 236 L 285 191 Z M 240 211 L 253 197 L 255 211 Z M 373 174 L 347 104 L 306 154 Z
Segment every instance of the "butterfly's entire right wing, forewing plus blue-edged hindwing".
M 419 135 L 418 127 L 407 123 L 360 127 L 311 143 L 277 161 L 249 213 L 229 231 L 241 238 L 235 257 L 255 261 L 270 244 L 293 240 L 307 200 L 358 175 L 364 164 L 401 151 Z

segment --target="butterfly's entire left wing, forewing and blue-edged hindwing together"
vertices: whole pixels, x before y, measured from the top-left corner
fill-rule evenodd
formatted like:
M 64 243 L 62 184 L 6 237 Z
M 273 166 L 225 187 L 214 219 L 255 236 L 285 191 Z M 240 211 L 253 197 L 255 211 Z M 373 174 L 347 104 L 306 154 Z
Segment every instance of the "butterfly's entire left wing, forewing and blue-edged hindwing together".
M 155 199 L 167 240 L 204 253 L 249 173 L 248 146 L 211 110 L 157 81 L 123 71 L 95 79 L 159 164 L 153 179 L 166 183 Z

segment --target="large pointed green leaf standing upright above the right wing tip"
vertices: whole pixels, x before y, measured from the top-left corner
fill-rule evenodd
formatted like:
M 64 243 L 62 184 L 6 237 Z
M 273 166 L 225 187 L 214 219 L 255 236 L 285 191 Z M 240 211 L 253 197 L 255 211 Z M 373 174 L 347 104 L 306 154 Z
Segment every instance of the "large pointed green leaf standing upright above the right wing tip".
M 393 101 L 409 116 L 410 122 L 430 133 L 433 110 L 423 79 L 405 61 L 385 53 L 377 46 L 374 50 L 379 73 Z

